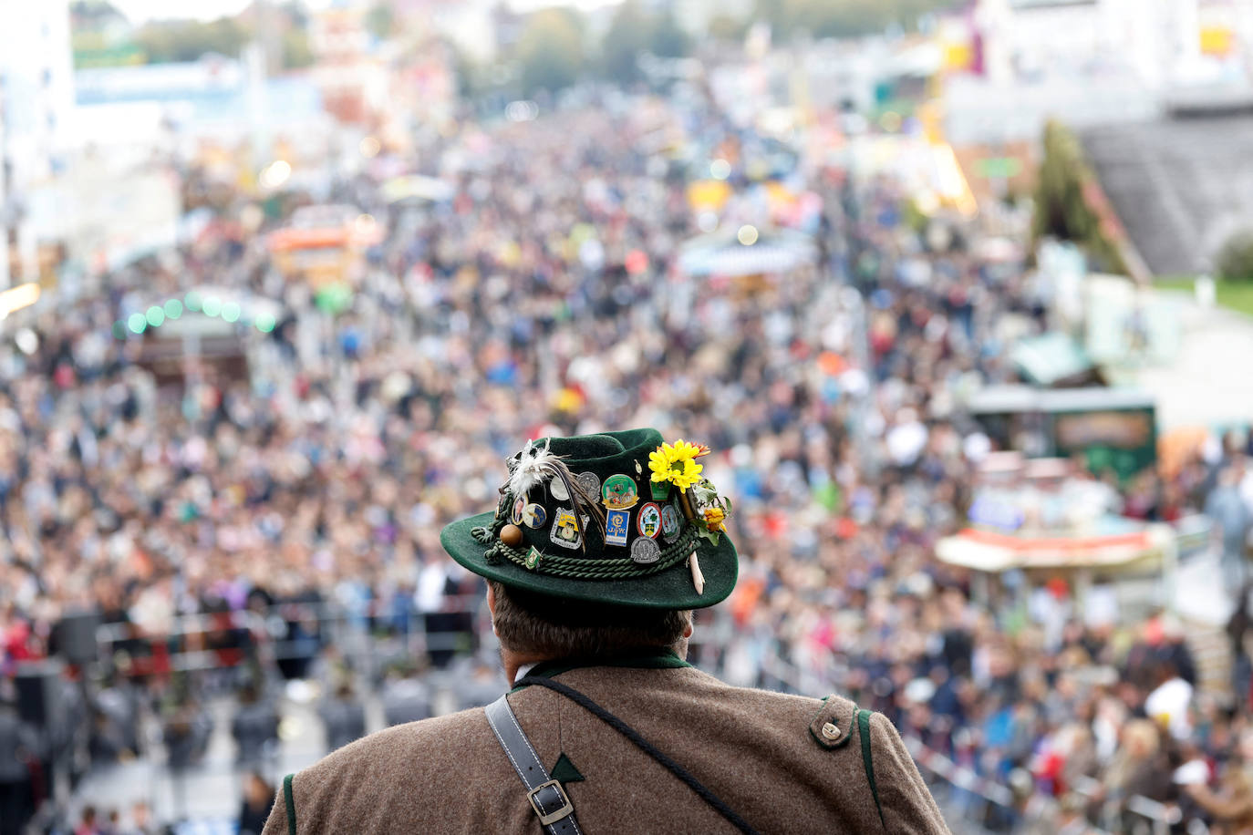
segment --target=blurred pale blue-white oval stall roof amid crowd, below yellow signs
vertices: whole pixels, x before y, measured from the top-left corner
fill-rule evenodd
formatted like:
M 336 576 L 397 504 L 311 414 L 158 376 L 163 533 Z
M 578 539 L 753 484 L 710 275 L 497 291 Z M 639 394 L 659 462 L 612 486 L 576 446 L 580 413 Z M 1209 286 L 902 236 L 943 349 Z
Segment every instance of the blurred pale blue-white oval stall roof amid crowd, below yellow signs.
M 817 254 L 813 239 L 803 233 L 744 225 L 688 240 L 679 252 L 679 269 L 688 275 L 727 278 L 787 273 L 813 263 Z

